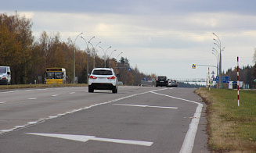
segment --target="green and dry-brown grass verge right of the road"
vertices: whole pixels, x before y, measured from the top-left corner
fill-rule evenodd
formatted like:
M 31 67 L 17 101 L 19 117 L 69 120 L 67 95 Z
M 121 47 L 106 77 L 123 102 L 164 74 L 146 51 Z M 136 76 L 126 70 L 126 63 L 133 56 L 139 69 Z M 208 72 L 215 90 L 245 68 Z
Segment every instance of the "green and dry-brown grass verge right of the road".
M 256 91 L 200 88 L 207 103 L 208 148 L 212 152 L 256 152 Z

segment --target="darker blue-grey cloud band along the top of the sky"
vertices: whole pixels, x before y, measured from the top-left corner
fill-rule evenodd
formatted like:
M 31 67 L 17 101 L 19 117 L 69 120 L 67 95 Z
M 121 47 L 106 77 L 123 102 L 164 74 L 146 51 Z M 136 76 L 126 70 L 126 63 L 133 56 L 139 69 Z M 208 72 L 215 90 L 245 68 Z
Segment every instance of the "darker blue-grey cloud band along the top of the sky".
M 33 12 L 93 12 L 118 14 L 189 14 L 191 12 L 237 12 L 255 14 L 254 0 L 9 0 L 2 2 L 1 10 L 18 10 Z

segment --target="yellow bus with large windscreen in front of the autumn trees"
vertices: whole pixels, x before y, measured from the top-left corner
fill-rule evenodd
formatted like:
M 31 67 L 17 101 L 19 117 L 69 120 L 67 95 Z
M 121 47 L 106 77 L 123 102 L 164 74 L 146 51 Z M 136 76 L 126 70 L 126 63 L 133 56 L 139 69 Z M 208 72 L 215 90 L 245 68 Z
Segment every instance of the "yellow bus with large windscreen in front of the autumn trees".
M 46 84 L 66 84 L 66 69 L 46 68 Z

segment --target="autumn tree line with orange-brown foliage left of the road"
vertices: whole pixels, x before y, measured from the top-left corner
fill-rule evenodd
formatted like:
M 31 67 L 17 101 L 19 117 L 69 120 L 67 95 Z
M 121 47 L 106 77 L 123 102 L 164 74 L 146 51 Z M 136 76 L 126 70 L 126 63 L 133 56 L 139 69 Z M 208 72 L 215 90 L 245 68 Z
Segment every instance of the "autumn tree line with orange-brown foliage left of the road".
M 42 31 L 36 39 L 32 35 L 33 23 L 25 16 L 7 16 L 0 14 L 0 66 L 10 66 L 12 70 L 12 84 L 34 84 L 38 76 L 45 77 L 45 69 L 48 67 L 62 67 L 67 71 L 68 81 L 74 82 L 74 50 L 75 73 L 78 83 L 86 83 L 87 74 L 87 52 L 74 46 L 74 42 L 68 38 L 67 42 L 60 41 L 60 34 L 47 34 Z M 111 66 L 109 66 L 111 60 Z M 88 51 L 88 72 L 93 69 L 92 49 Z M 104 59 L 96 54 L 95 66 L 104 67 Z M 144 77 L 151 75 L 140 73 L 139 69 L 129 69 L 127 58 L 107 59 L 106 67 L 116 68 L 120 73 L 121 81 L 128 85 L 138 85 Z M 44 81 L 44 80 L 42 80 Z

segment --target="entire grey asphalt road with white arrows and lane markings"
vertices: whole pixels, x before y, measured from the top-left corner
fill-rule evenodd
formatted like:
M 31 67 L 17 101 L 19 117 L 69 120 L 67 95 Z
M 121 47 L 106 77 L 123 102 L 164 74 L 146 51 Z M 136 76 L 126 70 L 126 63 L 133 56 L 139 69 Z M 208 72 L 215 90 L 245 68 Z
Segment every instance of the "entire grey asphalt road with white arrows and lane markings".
M 0 91 L 0 152 L 209 152 L 205 105 L 193 91 Z

